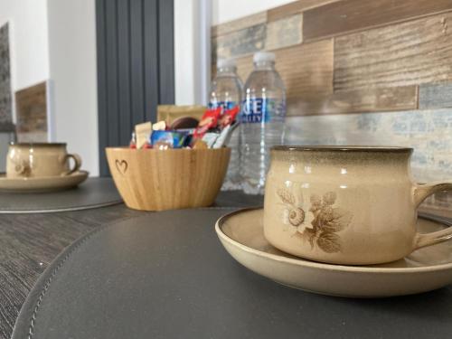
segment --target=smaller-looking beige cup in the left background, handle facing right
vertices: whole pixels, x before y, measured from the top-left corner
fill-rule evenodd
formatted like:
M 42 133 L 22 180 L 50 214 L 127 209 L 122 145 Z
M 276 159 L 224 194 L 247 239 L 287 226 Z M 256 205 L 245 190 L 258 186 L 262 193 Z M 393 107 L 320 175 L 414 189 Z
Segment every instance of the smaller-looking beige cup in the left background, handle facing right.
M 70 168 L 69 159 L 74 165 Z M 80 169 L 80 155 L 70 155 L 64 143 L 12 143 L 6 158 L 8 178 L 69 175 Z

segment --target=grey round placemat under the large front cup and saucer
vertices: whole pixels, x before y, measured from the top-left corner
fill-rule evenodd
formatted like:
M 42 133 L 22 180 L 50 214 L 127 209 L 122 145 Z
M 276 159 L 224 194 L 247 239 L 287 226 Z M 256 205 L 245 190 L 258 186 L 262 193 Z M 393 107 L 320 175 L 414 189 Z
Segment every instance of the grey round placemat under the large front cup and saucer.
M 13 338 L 450 338 L 452 287 L 346 299 L 280 286 L 222 248 L 213 224 L 232 210 L 144 213 L 76 241 L 33 287 Z

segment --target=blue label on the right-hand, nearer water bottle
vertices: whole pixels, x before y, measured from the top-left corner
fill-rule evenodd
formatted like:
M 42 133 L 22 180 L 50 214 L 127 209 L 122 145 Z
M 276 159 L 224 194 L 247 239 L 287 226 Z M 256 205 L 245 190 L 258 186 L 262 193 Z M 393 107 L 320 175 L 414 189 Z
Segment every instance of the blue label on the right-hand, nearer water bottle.
M 283 100 L 253 98 L 243 100 L 241 111 L 242 123 L 266 123 L 284 119 L 285 104 Z

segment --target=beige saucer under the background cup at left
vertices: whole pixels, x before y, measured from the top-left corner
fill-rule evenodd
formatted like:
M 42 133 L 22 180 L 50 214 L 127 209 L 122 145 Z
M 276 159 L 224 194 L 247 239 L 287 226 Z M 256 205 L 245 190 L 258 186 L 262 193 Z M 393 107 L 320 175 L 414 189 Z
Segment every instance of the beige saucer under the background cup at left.
M 69 175 L 42 176 L 28 178 L 7 178 L 0 174 L 0 191 L 11 193 L 44 193 L 67 190 L 83 183 L 88 178 L 87 171 Z

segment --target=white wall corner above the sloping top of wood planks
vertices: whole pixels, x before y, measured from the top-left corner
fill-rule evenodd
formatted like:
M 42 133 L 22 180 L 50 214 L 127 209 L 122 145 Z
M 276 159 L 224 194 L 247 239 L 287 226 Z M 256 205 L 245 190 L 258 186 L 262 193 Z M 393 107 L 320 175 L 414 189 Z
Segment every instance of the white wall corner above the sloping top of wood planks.
M 212 25 L 291 3 L 294 0 L 212 0 Z

